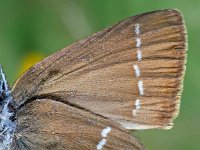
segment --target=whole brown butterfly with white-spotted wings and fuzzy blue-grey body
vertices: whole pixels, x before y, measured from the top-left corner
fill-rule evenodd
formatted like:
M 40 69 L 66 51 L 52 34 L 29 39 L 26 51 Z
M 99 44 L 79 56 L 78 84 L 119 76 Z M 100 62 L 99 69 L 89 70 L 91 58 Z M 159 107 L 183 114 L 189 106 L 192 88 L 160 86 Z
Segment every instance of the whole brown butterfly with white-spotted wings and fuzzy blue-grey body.
M 179 112 L 187 38 L 166 9 L 127 18 L 27 70 L 1 68 L 1 150 L 143 150 L 131 131 L 169 129 Z

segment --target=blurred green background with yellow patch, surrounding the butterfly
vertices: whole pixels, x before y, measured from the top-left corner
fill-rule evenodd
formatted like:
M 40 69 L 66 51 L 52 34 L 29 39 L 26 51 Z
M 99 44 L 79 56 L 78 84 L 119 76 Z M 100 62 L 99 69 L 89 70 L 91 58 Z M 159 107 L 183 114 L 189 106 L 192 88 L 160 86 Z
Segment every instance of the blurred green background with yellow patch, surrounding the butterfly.
M 181 111 L 171 130 L 136 135 L 149 150 L 199 150 L 199 0 L 0 0 L 0 63 L 13 85 L 25 68 L 60 48 L 121 19 L 165 8 L 181 10 L 188 30 Z

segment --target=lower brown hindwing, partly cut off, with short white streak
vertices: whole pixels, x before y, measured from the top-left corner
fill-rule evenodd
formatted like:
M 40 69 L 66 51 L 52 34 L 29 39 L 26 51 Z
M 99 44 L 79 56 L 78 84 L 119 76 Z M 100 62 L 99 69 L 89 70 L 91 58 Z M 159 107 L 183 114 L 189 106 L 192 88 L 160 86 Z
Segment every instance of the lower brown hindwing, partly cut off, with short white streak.
M 18 111 L 12 149 L 142 150 L 143 147 L 109 119 L 63 102 L 40 99 Z

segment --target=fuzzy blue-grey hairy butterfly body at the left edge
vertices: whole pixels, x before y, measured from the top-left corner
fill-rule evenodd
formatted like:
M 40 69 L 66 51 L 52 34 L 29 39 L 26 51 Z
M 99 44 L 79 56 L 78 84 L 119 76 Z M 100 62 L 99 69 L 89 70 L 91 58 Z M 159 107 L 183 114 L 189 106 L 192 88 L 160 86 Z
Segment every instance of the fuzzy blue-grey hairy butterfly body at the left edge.
M 0 149 L 8 149 L 16 129 L 13 98 L 0 66 Z

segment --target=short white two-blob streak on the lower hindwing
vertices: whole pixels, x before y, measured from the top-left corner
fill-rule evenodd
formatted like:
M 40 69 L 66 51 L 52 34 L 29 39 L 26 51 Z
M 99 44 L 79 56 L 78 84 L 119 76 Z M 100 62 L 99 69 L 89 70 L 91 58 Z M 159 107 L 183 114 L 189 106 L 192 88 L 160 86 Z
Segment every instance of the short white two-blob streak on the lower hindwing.
M 106 144 L 107 140 L 105 138 L 108 136 L 111 130 L 112 130 L 111 127 L 106 127 L 101 131 L 101 136 L 103 137 L 103 139 L 99 141 L 99 143 L 97 144 L 97 150 L 101 150 L 103 146 Z

